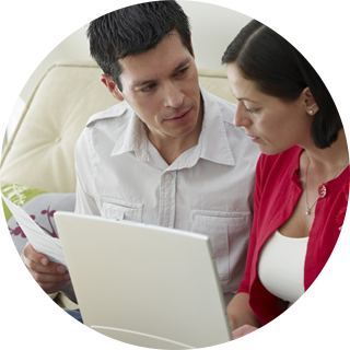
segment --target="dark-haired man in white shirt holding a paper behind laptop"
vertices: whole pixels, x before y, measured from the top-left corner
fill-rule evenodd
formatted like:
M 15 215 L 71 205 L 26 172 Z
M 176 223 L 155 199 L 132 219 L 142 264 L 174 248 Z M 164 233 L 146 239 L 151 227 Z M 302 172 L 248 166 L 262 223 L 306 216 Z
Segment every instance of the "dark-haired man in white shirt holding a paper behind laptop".
M 175 0 L 103 1 L 88 36 L 102 82 L 124 102 L 94 115 L 77 143 L 75 211 L 209 235 L 228 303 L 243 277 L 258 149 L 233 125 L 235 106 L 199 88 L 188 19 Z M 75 301 L 62 266 L 30 244 L 22 262 L 28 289 Z M 79 312 L 32 315 L 35 331 L 16 341 L 40 340 L 25 349 L 90 349 Z M 7 324 L 22 329 L 28 317 Z M 1 338 L 9 334 L 2 328 Z

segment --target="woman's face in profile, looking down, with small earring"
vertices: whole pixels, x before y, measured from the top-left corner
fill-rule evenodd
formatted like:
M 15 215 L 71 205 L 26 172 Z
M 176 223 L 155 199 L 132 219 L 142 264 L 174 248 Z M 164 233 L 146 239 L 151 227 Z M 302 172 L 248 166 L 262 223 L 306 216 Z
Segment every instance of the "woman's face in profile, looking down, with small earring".
M 287 103 L 261 93 L 234 62 L 228 63 L 226 71 L 231 91 L 238 101 L 234 124 L 244 127 L 262 153 L 277 154 L 295 144 L 305 148 L 312 143 L 311 125 L 318 109 L 313 96 L 307 95 L 308 88 L 296 101 Z

